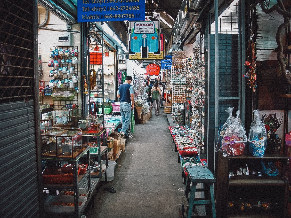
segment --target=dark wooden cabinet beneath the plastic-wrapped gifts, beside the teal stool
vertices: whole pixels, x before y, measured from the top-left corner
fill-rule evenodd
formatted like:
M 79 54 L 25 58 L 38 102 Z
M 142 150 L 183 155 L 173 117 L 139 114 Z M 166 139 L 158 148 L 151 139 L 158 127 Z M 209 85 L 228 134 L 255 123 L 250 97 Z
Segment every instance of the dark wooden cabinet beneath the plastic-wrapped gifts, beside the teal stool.
M 242 156 L 223 157 L 222 152 L 218 152 L 217 166 L 217 187 L 216 187 L 216 212 L 217 217 L 267 217 L 267 218 L 287 218 L 288 214 L 288 196 L 289 185 L 286 178 L 280 176 L 258 176 L 242 175 L 231 176 L 229 171 L 232 165 L 241 165 L 244 162 L 258 162 L 260 160 L 281 160 L 287 163 L 288 157 L 283 154 L 266 154 L 263 158 L 251 156 L 250 154 Z M 278 203 L 277 211 L 264 211 L 261 208 L 239 210 L 237 208 L 229 209 L 228 201 L 231 199 L 260 198 L 270 199 Z

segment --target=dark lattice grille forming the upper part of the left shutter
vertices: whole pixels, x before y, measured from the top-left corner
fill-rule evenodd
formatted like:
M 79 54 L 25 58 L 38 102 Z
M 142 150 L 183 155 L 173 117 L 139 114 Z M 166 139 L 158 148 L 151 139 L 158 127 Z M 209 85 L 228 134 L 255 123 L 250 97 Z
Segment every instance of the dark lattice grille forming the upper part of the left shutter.
M 0 102 L 33 98 L 32 1 L 1 1 Z

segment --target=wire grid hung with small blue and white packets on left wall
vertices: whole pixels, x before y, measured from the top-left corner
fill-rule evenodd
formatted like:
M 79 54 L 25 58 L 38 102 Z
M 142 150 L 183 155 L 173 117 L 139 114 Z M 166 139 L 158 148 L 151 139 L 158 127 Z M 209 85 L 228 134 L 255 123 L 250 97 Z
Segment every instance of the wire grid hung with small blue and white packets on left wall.
M 61 51 L 61 52 L 60 52 Z M 54 79 L 54 89 L 53 94 L 56 93 L 66 93 L 70 91 L 75 93 L 72 97 L 59 100 L 58 97 L 52 97 L 54 101 L 54 108 L 65 107 L 66 104 L 76 104 L 78 105 L 78 94 L 77 91 L 77 82 L 80 79 L 80 73 L 78 73 L 78 63 L 76 58 L 78 57 L 78 46 L 59 46 L 53 47 L 52 52 L 59 52 L 58 55 L 53 55 L 49 63 L 52 64 L 52 70 L 50 75 Z M 77 77 L 77 79 L 76 79 Z M 77 91 L 78 92 L 78 91 Z

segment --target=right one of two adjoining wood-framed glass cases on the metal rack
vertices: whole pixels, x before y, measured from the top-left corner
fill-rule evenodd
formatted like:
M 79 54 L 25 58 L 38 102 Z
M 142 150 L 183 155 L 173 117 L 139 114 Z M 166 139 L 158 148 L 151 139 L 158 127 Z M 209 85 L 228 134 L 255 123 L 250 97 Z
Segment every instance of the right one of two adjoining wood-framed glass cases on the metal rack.
M 82 151 L 82 131 L 67 130 L 56 136 L 57 153 L 59 158 L 75 158 Z

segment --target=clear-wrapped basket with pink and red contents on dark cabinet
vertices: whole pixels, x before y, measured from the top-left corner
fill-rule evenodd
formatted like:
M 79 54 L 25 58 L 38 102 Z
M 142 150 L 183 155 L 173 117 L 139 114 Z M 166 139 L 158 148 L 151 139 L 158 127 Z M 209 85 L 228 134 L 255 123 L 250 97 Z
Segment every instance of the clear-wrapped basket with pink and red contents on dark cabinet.
M 244 148 L 246 146 L 247 137 L 246 130 L 241 124 L 239 117 L 239 110 L 236 112 L 237 117 L 233 120 L 233 124 L 230 125 L 222 139 L 222 151 L 223 156 L 237 156 L 244 154 Z

